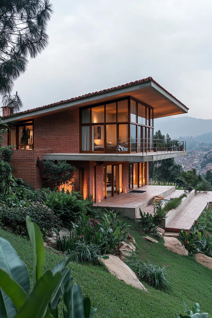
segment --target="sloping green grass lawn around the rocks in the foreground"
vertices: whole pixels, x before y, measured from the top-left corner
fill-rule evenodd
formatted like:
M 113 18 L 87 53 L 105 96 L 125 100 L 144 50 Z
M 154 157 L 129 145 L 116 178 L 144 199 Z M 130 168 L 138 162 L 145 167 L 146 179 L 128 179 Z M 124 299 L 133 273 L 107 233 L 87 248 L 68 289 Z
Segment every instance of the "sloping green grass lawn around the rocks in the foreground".
M 150 294 L 126 285 L 107 272 L 104 266 L 69 264 L 72 277 L 90 297 L 92 308 L 97 307 L 94 317 L 104 318 L 174 318 L 174 312 L 183 312 L 185 301 L 188 307 L 195 302 L 200 304 L 201 312 L 208 312 L 212 318 L 212 271 L 198 264 L 193 257 L 180 256 L 159 244 L 145 241 L 138 223 L 127 220 L 131 225 L 129 232 L 137 244 L 137 257 L 164 266 L 171 290 L 168 293 L 147 287 Z M 32 272 L 32 249 L 30 243 L 21 237 L 0 229 L 0 236 L 7 239 L 16 249 L 20 258 Z M 63 255 L 45 251 L 45 268 L 51 269 Z M 62 315 L 60 316 L 62 317 Z

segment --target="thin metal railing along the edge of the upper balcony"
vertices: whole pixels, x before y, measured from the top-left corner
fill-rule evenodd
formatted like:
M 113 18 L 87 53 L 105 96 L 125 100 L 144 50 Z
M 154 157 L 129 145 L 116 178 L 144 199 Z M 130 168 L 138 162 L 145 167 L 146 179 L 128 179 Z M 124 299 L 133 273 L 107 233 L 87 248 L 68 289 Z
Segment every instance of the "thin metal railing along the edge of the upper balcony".
M 186 141 L 149 139 L 149 138 L 118 138 L 116 154 L 123 152 L 136 152 L 147 155 L 147 152 L 171 153 L 186 151 Z

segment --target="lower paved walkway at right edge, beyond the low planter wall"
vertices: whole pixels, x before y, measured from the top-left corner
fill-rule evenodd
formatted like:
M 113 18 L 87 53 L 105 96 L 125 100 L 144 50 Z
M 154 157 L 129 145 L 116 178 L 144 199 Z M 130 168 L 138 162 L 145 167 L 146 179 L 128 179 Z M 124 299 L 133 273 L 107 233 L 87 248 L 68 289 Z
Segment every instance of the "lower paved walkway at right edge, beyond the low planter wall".
M 207 202 L 212 202 L 212 191 L 196 194 L 167 225 L 166 230 L 176 232 L 184 229 L 189 231 L 206 207 Z

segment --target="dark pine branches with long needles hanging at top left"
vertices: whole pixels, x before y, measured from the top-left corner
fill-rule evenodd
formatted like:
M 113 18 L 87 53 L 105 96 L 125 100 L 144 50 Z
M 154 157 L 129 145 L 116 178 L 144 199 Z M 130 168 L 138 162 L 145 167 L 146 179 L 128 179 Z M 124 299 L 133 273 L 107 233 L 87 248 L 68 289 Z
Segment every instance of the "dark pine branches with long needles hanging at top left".
M 46 26 L 51 18 L 49 0 L 7 0 L 0 3 L 0 95 L 3 106 L 19 111 L 22 103 L 12 95 L 14 81 L 26 71 L 28 59 L 48 45 Z

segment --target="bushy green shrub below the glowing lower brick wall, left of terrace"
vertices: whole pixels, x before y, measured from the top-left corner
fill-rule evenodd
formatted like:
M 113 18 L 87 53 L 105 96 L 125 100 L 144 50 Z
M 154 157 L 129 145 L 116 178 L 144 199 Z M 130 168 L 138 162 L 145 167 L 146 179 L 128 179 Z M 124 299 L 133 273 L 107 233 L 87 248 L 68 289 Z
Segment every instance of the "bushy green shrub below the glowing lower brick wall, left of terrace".
M 52 191 L 47 196 L 45 204 L 58 216 L 63 225 L 69 227 L 80 214 L 86 214 L 87 202 L 75 195 L 65 192 Z

